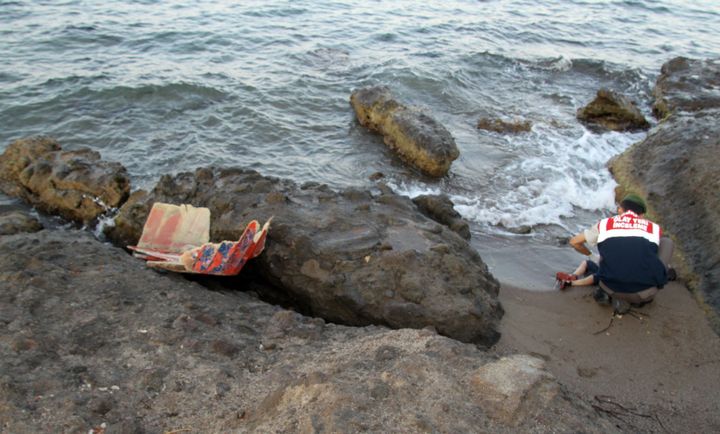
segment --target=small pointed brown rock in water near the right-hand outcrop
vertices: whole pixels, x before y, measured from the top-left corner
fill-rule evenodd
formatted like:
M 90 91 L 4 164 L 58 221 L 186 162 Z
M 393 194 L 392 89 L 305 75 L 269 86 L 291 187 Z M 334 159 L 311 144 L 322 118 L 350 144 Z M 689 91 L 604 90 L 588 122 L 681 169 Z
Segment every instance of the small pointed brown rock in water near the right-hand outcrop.
M 598 90 L 595 99 L 578 110 L 577 118 L 591 127 L 613 131 L 650 128 L 650 123 L 632 101 L 609 89 Z

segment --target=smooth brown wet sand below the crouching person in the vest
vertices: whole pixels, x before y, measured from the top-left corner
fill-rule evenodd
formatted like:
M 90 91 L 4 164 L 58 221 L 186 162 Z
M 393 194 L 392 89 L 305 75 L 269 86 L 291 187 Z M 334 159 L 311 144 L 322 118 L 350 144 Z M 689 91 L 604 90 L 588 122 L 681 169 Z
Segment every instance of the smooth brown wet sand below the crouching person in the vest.
M 551 277 L 536 280 L 553 284 Z M 626 432 L 720 432 L 720 338 L 682 282 L 614 318 L 592 290 L 503 284 L 494 351 L 546 360 L 561 384 Z

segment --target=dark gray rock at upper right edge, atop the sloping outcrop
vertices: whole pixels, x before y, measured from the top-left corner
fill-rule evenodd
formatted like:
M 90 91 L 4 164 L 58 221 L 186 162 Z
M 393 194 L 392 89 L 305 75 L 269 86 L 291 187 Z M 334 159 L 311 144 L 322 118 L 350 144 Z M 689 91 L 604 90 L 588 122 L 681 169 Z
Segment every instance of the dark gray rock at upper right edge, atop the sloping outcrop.
M 720 59 L 676 57 L 666 62 L 657 79 L 653 113 L 659 119 L 676 111 L 720 108 Z

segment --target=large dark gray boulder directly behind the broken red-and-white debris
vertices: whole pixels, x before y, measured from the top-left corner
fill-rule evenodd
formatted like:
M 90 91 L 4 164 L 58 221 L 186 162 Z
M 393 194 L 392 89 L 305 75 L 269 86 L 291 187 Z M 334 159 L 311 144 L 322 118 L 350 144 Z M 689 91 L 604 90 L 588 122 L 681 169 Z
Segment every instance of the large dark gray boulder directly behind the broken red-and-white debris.
M 242 169 L 164 176 L 121 208 L 109 236 L 133 244 L 154 202 L 210 208 L 211 239 L 237 239 L 251 219 L 274 216 L 265 252 L 251 261 L 315 316 L 351 325 L 435 327 L 492 344 L 499 284 L 472 247 L 392 192 L 295 184 Z

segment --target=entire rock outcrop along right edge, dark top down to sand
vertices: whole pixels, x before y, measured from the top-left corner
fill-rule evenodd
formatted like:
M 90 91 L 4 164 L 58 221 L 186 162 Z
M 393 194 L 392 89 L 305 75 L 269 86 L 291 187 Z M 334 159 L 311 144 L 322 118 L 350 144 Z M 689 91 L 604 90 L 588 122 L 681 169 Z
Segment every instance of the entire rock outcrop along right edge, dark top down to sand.
M 715 309 L 710 319 L 720 333 L 720 106 L 708 95 L 719 75 L 720 62 L 666 63 L 658 83 L 670 116 L 611 160 L 610 170 L 621 190 L 647 197 L 650 216 L 675 240 L 674 265 Z

